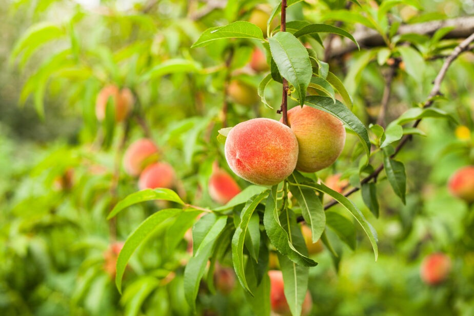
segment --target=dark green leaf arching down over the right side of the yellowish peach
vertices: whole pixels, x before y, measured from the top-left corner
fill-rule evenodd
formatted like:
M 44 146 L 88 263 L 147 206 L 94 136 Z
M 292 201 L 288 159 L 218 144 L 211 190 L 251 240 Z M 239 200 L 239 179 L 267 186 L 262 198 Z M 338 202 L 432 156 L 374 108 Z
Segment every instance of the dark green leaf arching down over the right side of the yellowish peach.
M 339 120 L 346 124 L 351 130 L 356 132 L 365 149 L 367 158 L 370 156 L 370 141 L 367 128 L 344 104 L 338 100 L 333 103 L 332 99 L 327 96 L 310 95 L 306 97 L 306 105 L 325 111 L 339 118 Z

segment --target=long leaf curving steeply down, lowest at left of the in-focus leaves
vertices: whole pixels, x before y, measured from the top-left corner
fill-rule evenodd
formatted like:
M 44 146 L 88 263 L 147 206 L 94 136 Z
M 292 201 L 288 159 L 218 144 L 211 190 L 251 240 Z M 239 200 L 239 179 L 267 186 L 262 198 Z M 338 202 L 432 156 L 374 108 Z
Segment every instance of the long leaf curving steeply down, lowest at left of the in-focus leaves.
M 127 263 L 135 251 L 135 249 L 140 246 L 140 244 L 148 238 L 148 236 L 158 227 L 163 225 L 166 220 L 172 216 L 178 215 L 183 212 L 182 209 L 169 208 L 158 211 L 150 215 L 145 221 L 140 224 L 139 227 L 133 231 L 130 236 L 128 236 L 125 241 L 124 247 L 118 254 L 117 265 L 116 265 L 116 275 L 115 275 L 115 285 L 120 293 L 122 293 L 122 277 L 127 267 Z

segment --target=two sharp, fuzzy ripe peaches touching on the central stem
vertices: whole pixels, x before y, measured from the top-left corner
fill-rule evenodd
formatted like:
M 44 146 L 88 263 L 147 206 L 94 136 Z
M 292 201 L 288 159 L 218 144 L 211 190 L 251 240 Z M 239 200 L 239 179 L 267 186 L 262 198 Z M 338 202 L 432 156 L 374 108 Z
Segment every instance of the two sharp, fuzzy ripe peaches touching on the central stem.
M 230 169 L 253 184 L 271 186 L 294 169 L 315 172 L 330 166 L 344 148 L 346 131 L 331 114 L 297 106 L 288 111 L 288 123 L 253 118 L 233 127 L 225 143 Z

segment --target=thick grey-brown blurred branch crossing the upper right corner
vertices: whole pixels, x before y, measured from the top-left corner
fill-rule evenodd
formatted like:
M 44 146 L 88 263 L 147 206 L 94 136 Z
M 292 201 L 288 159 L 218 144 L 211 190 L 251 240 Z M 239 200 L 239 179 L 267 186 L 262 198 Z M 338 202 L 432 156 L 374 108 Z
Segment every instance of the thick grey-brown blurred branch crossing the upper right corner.
M 474 16 L 462 16 L 418 24 L 405 24 L 399 27 L 397 34 L 416 33 L 429 36 L 443 27 L 454 27 L 454 29 L 444 35 L 443 38 L 466 38 L 474 33 Z M 354 32 L 353 36 L 363 48 L 386 46 L 382 36 L 376 30 L 367 27 L 363 27 L 361 30 Z M 355 50 L 357 50 L 356 44 L 348 39 L 342 40 L 341 38 L 334 38 L 328 57 L 338 57 Z

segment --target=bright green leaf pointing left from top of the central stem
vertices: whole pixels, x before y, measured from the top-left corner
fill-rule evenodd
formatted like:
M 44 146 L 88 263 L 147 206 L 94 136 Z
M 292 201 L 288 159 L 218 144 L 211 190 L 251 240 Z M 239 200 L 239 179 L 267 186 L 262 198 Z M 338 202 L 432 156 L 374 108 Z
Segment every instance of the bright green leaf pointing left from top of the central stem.
M 208 45 L 216 39 L 222 38 L 255 38 L 264 40 L 262 30 L 246 21 L 237 21 L 226 26 L 213 27 L 204 31 L 191 48 Z

